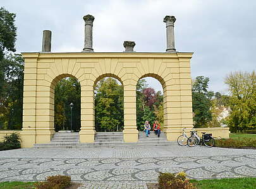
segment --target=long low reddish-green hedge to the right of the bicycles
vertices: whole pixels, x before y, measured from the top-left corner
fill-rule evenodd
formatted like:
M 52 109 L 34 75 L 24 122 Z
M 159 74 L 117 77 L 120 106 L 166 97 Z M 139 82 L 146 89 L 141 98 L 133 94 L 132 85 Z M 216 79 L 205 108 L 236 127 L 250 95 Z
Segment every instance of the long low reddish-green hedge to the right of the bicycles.
M 256 139 L 243 138 L 243 139 L 219 139 L 215 140 L 214 146 L 216 147 L 234 147 L 234 148 L 245 148 L 245 147 L 256 147 Z

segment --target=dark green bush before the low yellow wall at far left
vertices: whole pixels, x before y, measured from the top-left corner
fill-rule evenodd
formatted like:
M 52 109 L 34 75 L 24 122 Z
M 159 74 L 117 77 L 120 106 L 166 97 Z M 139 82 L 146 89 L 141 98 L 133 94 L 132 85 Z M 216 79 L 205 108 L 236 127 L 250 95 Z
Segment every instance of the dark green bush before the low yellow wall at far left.
M 4 141 L 0 143 L 0 151 L 20 148 L 20 141 L 20 135 L 16 133 L 6 135 L 4 136 Z

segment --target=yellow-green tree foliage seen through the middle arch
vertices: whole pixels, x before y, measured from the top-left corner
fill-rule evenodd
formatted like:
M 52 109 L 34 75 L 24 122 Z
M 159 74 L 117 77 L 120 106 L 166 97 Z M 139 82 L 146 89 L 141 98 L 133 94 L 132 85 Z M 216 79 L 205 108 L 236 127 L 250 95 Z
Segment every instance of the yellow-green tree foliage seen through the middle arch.
M 123 130 L 123 86 L 107 77 L 95 87 L 95 129 Z

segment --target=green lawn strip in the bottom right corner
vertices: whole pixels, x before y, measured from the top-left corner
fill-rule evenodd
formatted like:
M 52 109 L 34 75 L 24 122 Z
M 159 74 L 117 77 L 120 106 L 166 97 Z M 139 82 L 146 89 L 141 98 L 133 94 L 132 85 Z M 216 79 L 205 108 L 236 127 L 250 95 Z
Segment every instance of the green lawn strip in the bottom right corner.
M 256 178 L 224 178 L 221 180 L 190 180 L 197 189 L 255 189 Z

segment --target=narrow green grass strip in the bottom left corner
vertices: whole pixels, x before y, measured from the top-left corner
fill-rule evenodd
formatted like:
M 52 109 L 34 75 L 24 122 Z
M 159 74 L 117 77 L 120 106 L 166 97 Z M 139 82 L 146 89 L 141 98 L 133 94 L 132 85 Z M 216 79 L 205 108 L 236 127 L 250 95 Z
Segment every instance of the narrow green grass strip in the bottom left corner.
M 35 182 L 8 181 L 0 183 L 0 189 L 34 189 Z

